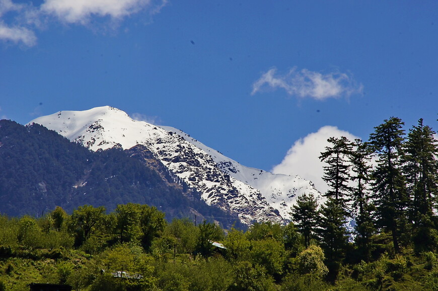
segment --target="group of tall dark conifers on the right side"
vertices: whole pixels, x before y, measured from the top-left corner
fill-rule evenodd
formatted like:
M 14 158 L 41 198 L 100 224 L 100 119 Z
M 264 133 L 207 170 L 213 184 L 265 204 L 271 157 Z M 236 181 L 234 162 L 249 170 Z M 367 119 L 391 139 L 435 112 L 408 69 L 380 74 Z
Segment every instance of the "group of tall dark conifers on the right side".
M 407 253 L 435 260 L 435 132 L 422 119 L 407 134 L 403 125 L 401 119 L 391 117 L 374 128 L 368 141 L 329 138 L 319 157 L 326 163 L 325 202 L 319 205 L 314 196 L 303 195 L 292 208 L 305 246 L 318 244 L 323 249 L 325 278 L 332 283 L 346 264 L 367 264 L 388 256 L 396 260 L 391 266 L 397 273 L 394 279 L 400 279 L 412 263 L 404 256 Z M 380 289 L 383 283 L 381 278 L 374 287 Z

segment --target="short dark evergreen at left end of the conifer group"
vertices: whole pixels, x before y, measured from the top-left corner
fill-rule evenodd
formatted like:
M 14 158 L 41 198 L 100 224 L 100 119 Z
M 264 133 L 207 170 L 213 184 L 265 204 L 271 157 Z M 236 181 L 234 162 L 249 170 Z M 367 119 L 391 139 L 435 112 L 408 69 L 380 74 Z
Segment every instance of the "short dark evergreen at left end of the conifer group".
M 297 204 L 292 206 L 290 212 L 298 231 L 304 237 L 304 245 L 309 247 L 315 233 L 318 218 L 318 202 L 313 194 L 304 194 L 297 198 Z

